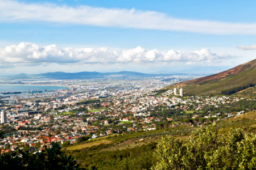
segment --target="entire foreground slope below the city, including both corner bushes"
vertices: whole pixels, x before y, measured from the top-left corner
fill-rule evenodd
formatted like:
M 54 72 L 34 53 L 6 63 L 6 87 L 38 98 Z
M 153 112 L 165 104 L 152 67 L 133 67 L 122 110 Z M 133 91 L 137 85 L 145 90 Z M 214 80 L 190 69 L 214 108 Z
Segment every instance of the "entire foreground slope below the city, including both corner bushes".
M 0 155 L 3 169 L 254 169 L 256 112 Z

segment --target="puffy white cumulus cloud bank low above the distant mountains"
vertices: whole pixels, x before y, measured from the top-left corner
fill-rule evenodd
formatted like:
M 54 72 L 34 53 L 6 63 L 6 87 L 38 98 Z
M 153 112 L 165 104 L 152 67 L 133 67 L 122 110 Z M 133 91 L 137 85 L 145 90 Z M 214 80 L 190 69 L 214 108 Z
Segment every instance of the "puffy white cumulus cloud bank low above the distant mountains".
M 137 48 L 117 52 L 106 47 L 102 48 L 60 48 L 59 46 L 39 46 L 31 42 L 21 42 L 0 48 L 1 65 L 46 65 L 48 63 L 210 63 L 229 59 L 232 56 L 210 52 L 209 49 L 195 50 L 185 53 L 181 50 L 160 52 L 157 49 Z

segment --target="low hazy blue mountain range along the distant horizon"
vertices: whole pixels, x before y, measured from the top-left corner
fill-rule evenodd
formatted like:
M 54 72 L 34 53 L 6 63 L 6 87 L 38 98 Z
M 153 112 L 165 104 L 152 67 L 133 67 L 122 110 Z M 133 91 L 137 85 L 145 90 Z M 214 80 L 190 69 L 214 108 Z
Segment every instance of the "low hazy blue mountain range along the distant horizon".
M 43 74 L 18 74 L 5 76 L 6 80 L 24 80 L 24 79 L 96 79 L 96 78 L 141 78 L 152 76 L 171 76 L 171 75 L 188 75 L 187 73 L 179 74 L 144 74 L 134 71 L 120 71 L 116 73 L 99 73 L 99 72 L 79 72 L 79 73 L 64 73 L 53 72 Z

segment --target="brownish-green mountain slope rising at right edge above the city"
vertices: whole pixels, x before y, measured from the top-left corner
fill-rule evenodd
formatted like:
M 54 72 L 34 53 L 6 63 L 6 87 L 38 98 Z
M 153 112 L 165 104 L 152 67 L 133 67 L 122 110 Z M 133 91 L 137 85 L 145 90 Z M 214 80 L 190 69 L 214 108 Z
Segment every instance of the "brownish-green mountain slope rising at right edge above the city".
M 255 84 L 256 59 L 218 74 L 172 84 L 164 89 L 183 88 L 184 95 L 231 95 L 246 90 L 255 94 Z

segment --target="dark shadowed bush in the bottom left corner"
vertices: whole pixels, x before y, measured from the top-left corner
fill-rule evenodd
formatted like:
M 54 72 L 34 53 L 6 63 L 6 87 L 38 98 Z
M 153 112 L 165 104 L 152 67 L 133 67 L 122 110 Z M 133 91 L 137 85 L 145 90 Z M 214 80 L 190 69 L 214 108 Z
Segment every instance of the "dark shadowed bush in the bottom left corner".
M 0 169 L 80 169 L 72 156 L 60 150 L 57 143 L 40 153 L 17 151 L 0 155 Z

